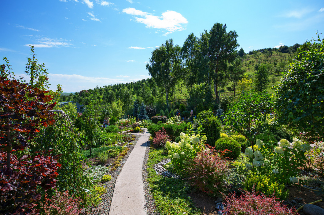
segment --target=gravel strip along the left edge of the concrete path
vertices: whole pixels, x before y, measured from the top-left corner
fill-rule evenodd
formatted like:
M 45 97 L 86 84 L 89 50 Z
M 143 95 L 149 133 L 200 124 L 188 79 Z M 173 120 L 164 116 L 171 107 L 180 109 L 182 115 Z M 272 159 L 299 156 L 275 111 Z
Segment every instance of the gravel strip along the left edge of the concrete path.
M 106 193 L 104 193 L 102 196 L 100 196 L 101 201 L 100 201 L 99 205 L 96 208 L 92 208 L 92 211 L 88 211 L 87 214 L 91 214 L 91 215 L 107 215 L 107 214 L 109 214 L 110 204 L 111 204 L 111 200 L 112 200 L 112 194 L 114 193 L 116 180 L 117 180 L 119 173 L 121 172 L 121 169 L 123 168 L 128 156 L 131 154 L 134 146 L 136 145 L 136 143 L 140 137 L 141 137 L 141 135 L 136 135 L 136 138 L 132 141 L 133 145 L 128 145 L 129 150 L 127 152 L 127 155 L 121 160 L 121 162 L 120 162 L 121 166 L 118 167 L 114 172 L 108 173 L 109 175 L 111 175 L 111 180 L 104 182 L 104 183 L 100 182 L 98 184 L 98 185 L 106 188 Z

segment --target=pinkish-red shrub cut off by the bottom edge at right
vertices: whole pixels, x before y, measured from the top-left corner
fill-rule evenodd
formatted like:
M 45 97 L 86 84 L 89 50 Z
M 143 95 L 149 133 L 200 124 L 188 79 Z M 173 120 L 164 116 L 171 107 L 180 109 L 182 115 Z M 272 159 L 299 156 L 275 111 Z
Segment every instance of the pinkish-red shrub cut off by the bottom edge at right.
M 240 197 L 236 197 L 235 192 L 229 196 L 224 195 L 228 215 L 295 215 L 295 208 L 289 209 L 282 204 L 282 201 L 274 197 L 266 197 L 261 192 L 250 193 L 242 190 Z

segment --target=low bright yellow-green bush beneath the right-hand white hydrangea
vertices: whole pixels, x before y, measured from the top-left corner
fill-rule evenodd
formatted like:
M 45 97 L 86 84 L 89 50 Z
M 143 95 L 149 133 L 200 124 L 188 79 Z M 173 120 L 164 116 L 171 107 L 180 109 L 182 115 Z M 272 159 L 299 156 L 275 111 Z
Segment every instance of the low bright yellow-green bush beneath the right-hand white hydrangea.
M 260 191 L 266 196 L 274 195 L 282 200 L 288 197 L 288 192 L 284 191 L 284 184 L 279 184 L 273 177 L 266 175 L 249 175 L 244 182 L 244 188 L 248 191 Z

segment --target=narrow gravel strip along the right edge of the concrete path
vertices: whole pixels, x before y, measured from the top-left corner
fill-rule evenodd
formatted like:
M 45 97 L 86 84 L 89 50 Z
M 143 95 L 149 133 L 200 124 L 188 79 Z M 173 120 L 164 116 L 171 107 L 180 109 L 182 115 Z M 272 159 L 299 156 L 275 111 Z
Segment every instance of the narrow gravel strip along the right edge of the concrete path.
M 148 144 L 146 145 L 145 156 L 144 156 L 143 167 L 142 167 L 146 213 L 147 213 L 147 215 L 160 215 L 160 213 L 157 212 L 157 210 L 156 210 L 149 182 L 146 180 L 148 178 L 147 171 L 146 171 L 147 170 L 146 164 L 147 164 L 149 152 L 150 152 L 150 142 L 148 142 Z

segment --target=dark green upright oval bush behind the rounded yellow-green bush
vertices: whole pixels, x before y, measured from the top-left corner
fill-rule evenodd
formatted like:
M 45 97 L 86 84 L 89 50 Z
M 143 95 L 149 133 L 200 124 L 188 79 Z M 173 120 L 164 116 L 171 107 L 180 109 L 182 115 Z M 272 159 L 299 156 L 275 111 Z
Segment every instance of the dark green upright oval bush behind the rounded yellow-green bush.
M 217 117 L 206 118 L 202 121 L 203 132 L 207 136 L 206 144 L 215 146 L 215 141 L 220 138 L 221 121 Z

